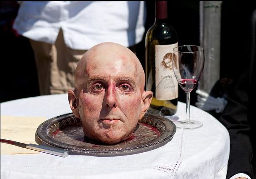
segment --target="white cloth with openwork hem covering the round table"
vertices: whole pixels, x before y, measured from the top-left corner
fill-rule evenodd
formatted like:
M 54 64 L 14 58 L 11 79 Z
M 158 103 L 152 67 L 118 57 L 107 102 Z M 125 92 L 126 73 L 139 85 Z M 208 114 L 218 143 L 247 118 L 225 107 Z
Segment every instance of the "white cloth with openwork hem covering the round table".
M 38 96 L 1 103 L 1 116 L 44 116 L 70 113 L 67 94 Z M 176 116 L 186 105 L 178 102 Z M 151 151 L 126 156 L 1 155 L 1 179 L 225 179 L 229 134 L 209 113 L 191 106 L 198 129 L 177 129 L 173 139 Z

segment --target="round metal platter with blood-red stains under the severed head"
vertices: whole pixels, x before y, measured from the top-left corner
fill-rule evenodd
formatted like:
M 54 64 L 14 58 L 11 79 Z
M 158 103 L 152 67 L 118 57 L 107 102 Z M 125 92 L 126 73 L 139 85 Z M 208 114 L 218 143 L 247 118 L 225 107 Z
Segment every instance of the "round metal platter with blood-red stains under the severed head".
M 86 139 L 80 119 L 68 113 L 42 123 L 35 139 L 38 144 L 66 149 L 71 155 L 116 156 L 156 149 L 171 141 L 175 132 L 171 120 L 146 113 L 129 139 L 108 145 Z

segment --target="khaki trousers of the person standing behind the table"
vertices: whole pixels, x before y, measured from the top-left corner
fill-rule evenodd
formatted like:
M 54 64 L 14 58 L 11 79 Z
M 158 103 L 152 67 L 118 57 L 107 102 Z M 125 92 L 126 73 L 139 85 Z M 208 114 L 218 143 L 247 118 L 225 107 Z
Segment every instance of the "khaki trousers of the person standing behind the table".
M 74 74 L 86 50 L 73 50 L 65 45 L 62 30 L 54 45 L 30 40 L 34 50 L 41 95 L 74 90 Z

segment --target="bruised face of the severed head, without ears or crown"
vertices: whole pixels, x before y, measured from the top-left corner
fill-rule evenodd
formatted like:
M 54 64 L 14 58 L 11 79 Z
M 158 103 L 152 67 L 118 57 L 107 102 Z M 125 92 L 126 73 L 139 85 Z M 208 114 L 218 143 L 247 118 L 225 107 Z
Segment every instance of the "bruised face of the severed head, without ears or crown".
M 87 61 L 78 90 L 85 136 L 106 143 L 128 139 L 140 118 L 142 91 L 136 65 L 124 55 L 97 55 Z

